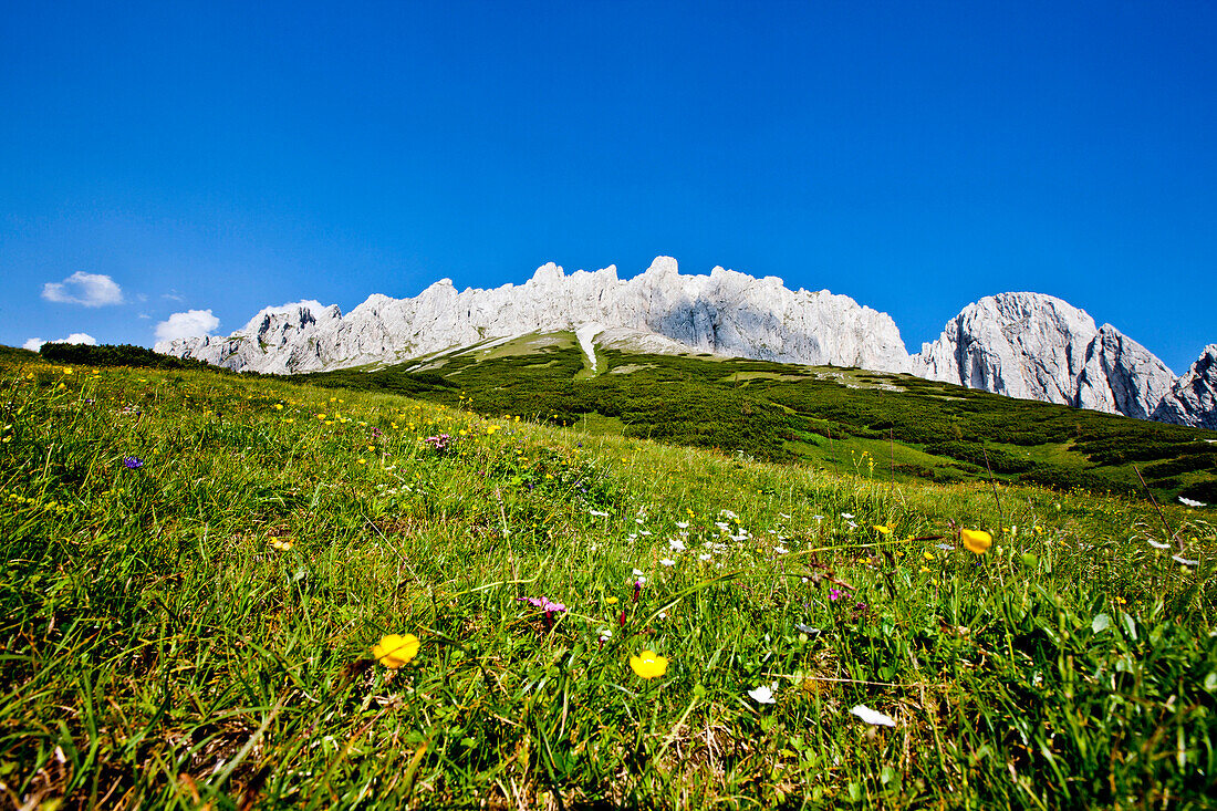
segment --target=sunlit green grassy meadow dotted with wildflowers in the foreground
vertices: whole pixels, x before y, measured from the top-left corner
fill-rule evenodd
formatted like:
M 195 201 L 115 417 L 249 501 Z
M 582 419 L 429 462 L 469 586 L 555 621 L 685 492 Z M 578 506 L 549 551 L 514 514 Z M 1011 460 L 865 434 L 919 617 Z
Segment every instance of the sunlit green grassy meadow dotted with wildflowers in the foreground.
M 873 472 L 837 474 L 194 370 L 17 358 L 0 410 L 17 807 L 1217 793 L 1211 510 L 890 482 L 877 438 Z M 396 671 L 371 656 L 389 633 L 421 641 Z M 634 675 L 644 649 L 662 677 Z

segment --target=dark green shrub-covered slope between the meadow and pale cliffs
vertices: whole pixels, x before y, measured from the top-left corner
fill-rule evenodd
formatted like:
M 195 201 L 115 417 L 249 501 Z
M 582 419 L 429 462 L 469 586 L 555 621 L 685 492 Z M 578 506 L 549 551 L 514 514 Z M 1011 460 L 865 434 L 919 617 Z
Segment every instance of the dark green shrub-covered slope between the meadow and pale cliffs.
M 587 377 L 577 347 L 506 345 L 441 356 L 426 371 L 403 364 L 305 379 L 563 425 L 608 416 L 626 436 L 899 481 L 987 480 L 992 471 L 1056 490 L 1144 496 L 1139 469 L 1159 499 L 1217 503 L 1212 431 L 910 375 L 708 356 L 598 351 L 598 358 L 601 374 Z

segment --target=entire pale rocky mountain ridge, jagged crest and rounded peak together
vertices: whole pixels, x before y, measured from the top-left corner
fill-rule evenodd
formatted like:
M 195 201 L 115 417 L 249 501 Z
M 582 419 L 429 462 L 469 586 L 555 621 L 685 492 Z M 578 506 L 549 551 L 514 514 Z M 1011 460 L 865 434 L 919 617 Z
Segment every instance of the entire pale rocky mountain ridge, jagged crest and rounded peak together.
M 239 371 L 295 374 L 385 365 L 487 339 L 589 325 L 596 334 L 626 330 L 617 340 L 651 336 L 658 352 L 683 347 L 723 357 L 908 371 L 1139 419 L 1193 426 L 1217 420 L 1217 371 L 1201 370 L 1173 393 L 1183 377 L 1116 328 L 1097 326 L 1086 311 L 1054 296 L 986 296 L 948 320 L 921 352 L 909 354 L 891 315 L 849 296 L 790 290 L 778 276 L 757 279 L 722 267 L 685 275 L 674 258 L 663 256 L 626 280 L 616 265 L 566 274 L 549 262 L 523 284 L 458 291 L 450 279 L 441 279 L 414 297 L 372 293 L 347 315 L 316 301 L 265 307 L 229 336 L 178 339 L 155 348 Z M 1171 404 L 1160 408 L 1167 398 Z

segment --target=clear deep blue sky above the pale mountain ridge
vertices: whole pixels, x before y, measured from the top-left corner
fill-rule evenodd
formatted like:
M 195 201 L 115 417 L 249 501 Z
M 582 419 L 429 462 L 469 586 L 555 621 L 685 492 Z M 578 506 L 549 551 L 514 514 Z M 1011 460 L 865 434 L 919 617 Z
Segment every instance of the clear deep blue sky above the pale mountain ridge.
M 5 2 L 0 342 L 671 255 L 914 352 L 1051 293 L 1182 373 L 1217 341 L 1215 43 L 1211 1 Z

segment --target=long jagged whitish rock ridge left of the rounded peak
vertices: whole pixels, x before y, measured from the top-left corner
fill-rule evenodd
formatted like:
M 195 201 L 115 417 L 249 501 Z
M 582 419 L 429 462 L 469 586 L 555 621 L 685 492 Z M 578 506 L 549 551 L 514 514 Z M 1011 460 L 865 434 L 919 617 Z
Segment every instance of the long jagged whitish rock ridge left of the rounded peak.
M 671 257 L 656 258 L 629 280 L 618 279 L 613 265 L 566 275 L 554 263 L 520 286 L 458 292 L 443 279 L 414 298 L 374 295 L 346 317 L 316 302 L 268 308 L 229 337 L 185 339 L 156 349 L 237 370 L 313 371 L 589 323 L 652 334 L 694 352 L 880 371 L 910 367 L 886 313 L 826 290 L 787 290 L 775 276 L 723 268 L 682 275 Z

